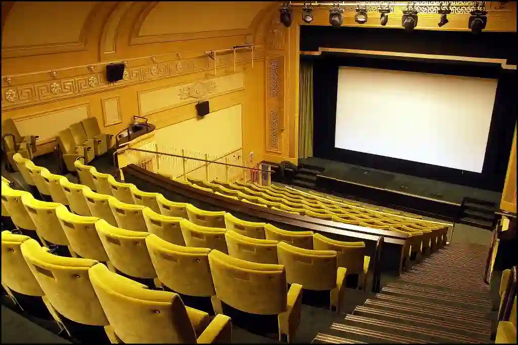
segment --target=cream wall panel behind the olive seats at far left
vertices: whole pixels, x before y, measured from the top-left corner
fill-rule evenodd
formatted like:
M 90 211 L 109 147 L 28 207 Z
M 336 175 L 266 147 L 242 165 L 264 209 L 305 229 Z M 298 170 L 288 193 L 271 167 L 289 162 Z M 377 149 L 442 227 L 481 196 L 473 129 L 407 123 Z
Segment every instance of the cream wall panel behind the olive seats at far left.
M 57 132 L 90 116 L 88 103 L 15 118 L 21 136 L 39 136 L 39 142 L 54 139 Z

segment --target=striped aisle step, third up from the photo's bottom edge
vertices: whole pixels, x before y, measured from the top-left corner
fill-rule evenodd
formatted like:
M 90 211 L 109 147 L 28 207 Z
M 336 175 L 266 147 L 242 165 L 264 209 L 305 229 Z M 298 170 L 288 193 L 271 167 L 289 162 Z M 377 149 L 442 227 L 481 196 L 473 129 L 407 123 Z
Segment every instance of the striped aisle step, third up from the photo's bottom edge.
M 344 324 L 371 329 L 372 331 L 386 332 L 389 334 L 400 335 L 404 337 L 421 339 L 425 341 L 433 341 L 438 343 L 481 343 L 482 340 L 472 337 L 466 337 L 444 331 L 436 331 L 418 326 L 408 326 L 396 322 L 365 318 L 361 316 L 348 314 Z

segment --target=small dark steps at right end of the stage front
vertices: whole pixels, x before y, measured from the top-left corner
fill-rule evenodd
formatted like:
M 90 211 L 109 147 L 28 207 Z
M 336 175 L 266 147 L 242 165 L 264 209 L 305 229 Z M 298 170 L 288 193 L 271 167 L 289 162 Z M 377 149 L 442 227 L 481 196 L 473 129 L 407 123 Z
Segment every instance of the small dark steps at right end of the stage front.
M 495 212 L 498 206 L 491 201 L 464 198 L 461 205 L 459 222 L 473 227 L 493 230 L 497 220 Z

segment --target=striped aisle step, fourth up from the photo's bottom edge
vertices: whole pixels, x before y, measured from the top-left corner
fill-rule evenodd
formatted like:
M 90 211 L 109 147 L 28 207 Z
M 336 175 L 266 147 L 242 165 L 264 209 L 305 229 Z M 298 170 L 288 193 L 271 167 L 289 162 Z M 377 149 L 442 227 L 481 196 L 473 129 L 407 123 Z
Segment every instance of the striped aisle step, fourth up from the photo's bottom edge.
M 358 306 L 354 309 L 353 315 L 399 323 L 411 327 L 420 327 L 430 331 L 447 332 L 456 335 L 478 339 L 480 341 L 490 340 L 490 329 L 475 328 L 468 325 L 453 324 L 449 320 L 436 320 L 430 317 L 415 316 L 393 310 L 381 310 L 377 308 Z

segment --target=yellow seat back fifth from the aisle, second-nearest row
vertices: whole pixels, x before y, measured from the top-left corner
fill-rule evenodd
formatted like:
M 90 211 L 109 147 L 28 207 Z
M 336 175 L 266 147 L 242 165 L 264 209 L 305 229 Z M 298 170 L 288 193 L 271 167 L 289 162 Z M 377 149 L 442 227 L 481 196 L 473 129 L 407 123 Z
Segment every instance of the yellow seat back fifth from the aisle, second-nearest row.
M 68 239 L 56 216 L 56 207 L 63 206 L 62 204 L 39 201 L 34 199 L 31 194 L 22 196 L 22 203 L 41 238 L 53 244 L 68 246 Z

